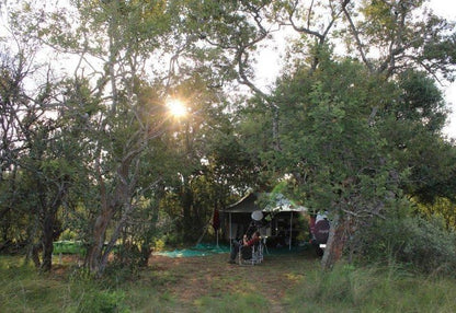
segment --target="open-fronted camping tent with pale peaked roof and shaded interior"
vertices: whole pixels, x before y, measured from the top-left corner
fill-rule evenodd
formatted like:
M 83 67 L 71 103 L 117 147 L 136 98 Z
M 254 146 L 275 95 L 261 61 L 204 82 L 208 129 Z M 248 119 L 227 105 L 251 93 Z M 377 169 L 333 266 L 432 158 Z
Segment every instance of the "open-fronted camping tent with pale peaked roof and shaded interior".
M 260 197 L 266 200 L 260 204 Z M 299 229 L 297 216 L 307 211 L 306 207 L 294 204 L 282 194 L 249 193 L 221 210 L 221 213 L 225 215 L 225 234 L 230 241 L 260 229 L 261 235 L 270 244 L 288 245 L 292 248 Z

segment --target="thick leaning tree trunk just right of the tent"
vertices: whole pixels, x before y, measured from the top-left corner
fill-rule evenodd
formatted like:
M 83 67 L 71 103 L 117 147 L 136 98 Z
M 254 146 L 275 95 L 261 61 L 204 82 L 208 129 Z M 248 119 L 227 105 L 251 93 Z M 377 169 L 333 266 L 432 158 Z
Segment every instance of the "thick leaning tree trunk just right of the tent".
M 337 213 L 331 221 L 327 248 L 324 250 L 321 267 L 331 269 L 341 259 L 346 243 L 345 218 Z

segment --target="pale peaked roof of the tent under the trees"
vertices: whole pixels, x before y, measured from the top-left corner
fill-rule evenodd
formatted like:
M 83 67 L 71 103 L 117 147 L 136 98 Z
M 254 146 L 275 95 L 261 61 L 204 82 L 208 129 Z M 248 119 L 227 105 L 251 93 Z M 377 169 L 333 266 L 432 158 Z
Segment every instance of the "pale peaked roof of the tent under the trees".
M 285 198 L 282 194 L 266 194 L 271 197 L 271 201 L 264 207 L 260 207 L 256 204 L 259 198 L 258 193 L 249 193 L 243 198 L 241 198 L 236 204 L 224 209 L 224 212 L 231 213 L 251 213 L 253 211 L 263 211 L 263 212 L 306 212 L 308 209 L 303 206 L 293 204 L 289 199 Z

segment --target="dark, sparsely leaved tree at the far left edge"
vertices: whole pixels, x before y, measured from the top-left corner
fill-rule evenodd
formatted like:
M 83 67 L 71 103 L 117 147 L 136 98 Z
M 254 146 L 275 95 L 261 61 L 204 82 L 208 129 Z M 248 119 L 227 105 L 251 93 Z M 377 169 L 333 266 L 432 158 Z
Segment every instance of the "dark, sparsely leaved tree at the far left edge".
M 71 141 L 65 142 L 62 125 L 49 117 L 57 107 L 53 100 L 58 86 L 48 72 L 36 94 L 27 93 L 24 81 L 32 77 L 30 67 L 23 50 L 2 67 L 2 178 L 11 183 L 2 211 L 15 210 L 18 220 L 27 221 L 22 227 L 33 260 L 50 270 L 53 243 L 61 232 L 57 213 L 70 188 L 76 158 Z M 5 233 L 10 222 L 4 224 Z

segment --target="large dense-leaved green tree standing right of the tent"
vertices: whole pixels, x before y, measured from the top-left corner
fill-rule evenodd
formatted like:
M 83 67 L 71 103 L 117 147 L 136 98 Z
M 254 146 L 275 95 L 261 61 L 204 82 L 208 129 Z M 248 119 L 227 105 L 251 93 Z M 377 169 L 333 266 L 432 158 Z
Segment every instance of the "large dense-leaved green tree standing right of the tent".
M 394 143 L 395 137 L 390 136 L 392 130 L 407 129 L 408 134 L 415 135 L 419 129 L 420 138 L 428 138 L 425 142 L 443 143 L 438 138 L 438 131 L 445 119 L 445 112 L 442 109 L 440 92 L 430 85 L 430 81 L 426 81 L 429 79 L 418 73 L 417 69 L 424 70 L 434 79 L 438 76 L 452 79 L 454 49 L 449 47 L 455 45 L 454 28 L 452 23 L 425 13 L 422 10 L 423 1 L 316 1 L 310 5 L 299 1 L 280 3 L 281 5 L 275 7 L 278 23 L 290 25 L 301 34 L 301 37 L 296 40 L 288 61 L 288 68 L 294 69 L 292 77 L 294 76 L 295 83 L 292 84 L 292 90 L 283 91 L 278 88 L 280 97 L 275 103 L 281 104 L 281 115 L 292 116 L 287 111 L 294 112 L 294 118 L 299 121 L 295 124 L 289 121 L 292 118 L 281 118 L 284 120 L 281 127 L 285 127 L 280 131 L 281 135 L 284 134 L 280 137 L 283 148 L 281 154 L 284 156 L 273 155 L 274 159 L 280 160 L 276 161 L 277 164 L 286 169 L 285 173 L 295 173 L 294 184 L 297 186 L 310 186 L 311 179 L 321 179 L 312 185 L 314 190 L 307 190 L 303 197 L 310 197 L 310 201 L 320 199 L 318 200 L 320 207 L 324 207 L 322 199 L 326 199 L 326 206 L 339 206 L 333 210 L 343 212 L 335 215 L 342 217 L 342 221 L 335 218 L 335 223 L 341 224 L 342 228 L 340 232 L 338 227 L 333 228 L 333 231 L 339 232 L 337 239 L 343 241 L 343 234 L 350 232 L 350 227 L 344 224 L 344 221 L 347 217 L 356 218 L 358 215 L 353 208 L 347 208 L 349 202 L 352 205 L 358 202 L 358 207 L 367 209 L 368 216 L 375 216 L 378 213 L 377 209 L 384 207 L 391 195 L 400 195 L 395 192 L 399 187 L 398 184 L 406 192 L 417 186 L 415 182 L 399 178 L 410 169 L 408 165 L 414 163 L 412 159 L 418 164 L 423 158 L 418 159 L 417 154 L 413 154 L 411 150 L 415 148 L 408 148 L 402 150 L 408 155 L 406 156 L 408 161 L 401 162 L 404 159 L 396 159 L 399 155 L 396 152 L 391 154 L 391 151 L 398 151 Z M 323 15 L 324 12 L 329 13 Z M 421 14 L 422 19 L 414 20 L 414 14 Z M 340 48 L 342 42 L 346 44 L 345 49 Z M 332 47 L 335 45 L 338 49 L 333 50 Z M 337 60 L 337 55 L 347 54 L 358 58 L 366 70 L 354 71 L 358 68 L 358 66 L 353 67 L 356 61 L 352 62 L 351 69 L 343 66 L 351 63 L 346 60 L 341 61 L 340 66 L 329 66 L 331 61 L 328 60 Z M 299 76 L 300 72 L 305 74 Z M 364 81 L 354 81 L 353 74 L 363 78 Z M 316 93 L 316 90 L 320 92 Z M 368 97 L 365 92 L 369 93 Z M 317 94 L 318 98 L 311 101 L 306 98 L 305 94 Z M 292 111 L 301 102 L 304 102 L 301 112 Z M 394 117 L 391 109 L 398 109 L 400 117 Z M 377 116 L 379 113 L 381 113 L 380 117 Z M 357 119 L 351 119 L 349 116 L 356 116 Z M 400 125 L 398 119 L 407 119 L 407 126 Z M 329 120 L 331 123 L 328 123 Z M 306 124 L 319 127 L 308 129 Z M 288 128 L 290 126 L 299 131 Z M 360 131 L 368 136 L 363 137 Z M 349 140 L 350 137 L 353 138 L 352 142 Z M 407 138 L 406 141 L 411 139 L 407 136 L 402 138 Z M 289 146 L 290 143 L 293 146 Z M 451 146 L 443 148 L 444 146 L 445 143 L 437 151 L 452 150 Z M 304 152 L 297 152 L 299 149 L 309 150 L 308 154 L 301 155 Z M 318 149 L 322 151 L 319 152 Z M 314 160 L 316 163 L 309 161 L 309 154 L 312 155 L 310 151 L 319 155 Z M 367 160 L 371 153 L 374 159 Z M 449 164 L 451 154 L 451 152 L 445 153 L 446 156 L 443 156 L 445 161 L 442 162 L 440 159 L 440 163 Z M 349 160 L 357 161 L 347 162 L 347 155 L 354 155 Z M 317 162 L 319 160 L 326 160 L 327 163 L 320 164 Z M 337 160 L 345 160 L 345 163 Z M 401 165 L 394 165 L 395 162 Z M 436 183 L 438 179 L 432 182 L 433 178 L 429 175 L 424 178 L 424 173 L 421 172 L 431 163 L 433 163 L 431 159 L 428 159 L 426 163 L 420 163 L 423 166 L 411 167 L 413 175 L 419 175 L 420 182 L 426 187 L 441 185 Z M 319 166 L 309 171 L 312 164 Z M 331 164 L 331 169 L 320 171 L 320 166 L 326 169 L 326 164 Z M 375 169 L 371 176 L 361 171 L 363 169 L 361 164 Z M 346 169 L 351 171 L 346 172 Z M 283 170 L 278 172 L 284 173 Z M 350 177 L 350 172 L 354 176 Z M 377 178 L 378 182 L 375 181 Z M 367 181 L 371 181 L 367 185 L 376 186 L 377 192 L 385 188 L 383 199 L 381 193 L 376 194 L 372 190 L 369 195 L 369 188 L 364 185 Z M 333 186 L 328 185 L 328 182 Z M 425 188 L 420 190 L 424 192 Z M 331 194 L 330 190 L 339 192 Z M 356 195 L 361 198 L 354 200 L 353 197 L 356 198 Z M 343 197 L 339 198 L 339 196 Z M 367 204 L 369 198 L 372 198 L 371 205 Z M 349 202 L 345 202 L 345 199 L 350 199 Z M 337 242 L 337 247 L 342 248 L 343 242 Z M 333 242 L 330 241 L 323 257 L 324 267 L 330 267 L 341 255 L 333 248 Z

